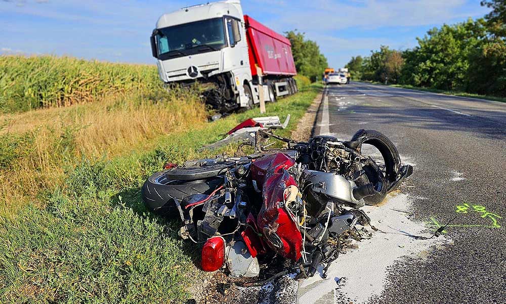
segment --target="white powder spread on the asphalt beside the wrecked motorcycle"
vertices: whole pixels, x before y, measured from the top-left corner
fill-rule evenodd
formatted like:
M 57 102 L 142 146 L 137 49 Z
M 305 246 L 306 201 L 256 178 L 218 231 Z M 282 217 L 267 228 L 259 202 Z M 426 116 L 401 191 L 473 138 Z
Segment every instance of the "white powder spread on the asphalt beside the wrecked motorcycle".
M 378 224 L 382 231 L 372 232 L 372 238 L 363 240 L 360 246 L 350 248 L 349 253 L 341 255 L 339 264 L 331 265 L 329 277 L 346 277 L 338 285 L 339 296 L 350 298 L 354 303 L 364 303 L 381 294 L 389 269 L 395 267 L 401 256 L 416 258 L 429 250 L 432 245 L 448 243 L 448 239 L 415 239 L 413 235 L 427 233 L 427 227 L 408 219 L 404 212 L 391 212 L 405 209 L 411 205 L 411 197 L 400 193 L 390 198 L 388 207 L 364 206 L 362 209 L 370 216 L 373 225 Z M 379 235 L 376 235 L 380 233 Z M 383 236 L 387 236 L 385 240 Z M 360 261 L 360 263 L 357 263 Z M 357 288 L 357 287 L 360 288 Z M 318 277 L 301 282 L 299 295 L 301 303 L 315 303 L 322 294 L 332 292 L 336 283 Z

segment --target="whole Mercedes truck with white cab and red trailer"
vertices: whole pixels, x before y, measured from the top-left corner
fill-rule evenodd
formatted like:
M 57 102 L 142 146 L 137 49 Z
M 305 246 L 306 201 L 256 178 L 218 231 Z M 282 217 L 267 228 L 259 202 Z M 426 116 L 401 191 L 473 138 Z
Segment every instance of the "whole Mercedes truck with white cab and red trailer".
M 212 84 L 204 95 L 214 108 L 251 107 L 261 96 L 275 101 L 297 92 L 290 41 L 242 14 L 239 0 L 162 15 L 151 48 L 165 83 Z

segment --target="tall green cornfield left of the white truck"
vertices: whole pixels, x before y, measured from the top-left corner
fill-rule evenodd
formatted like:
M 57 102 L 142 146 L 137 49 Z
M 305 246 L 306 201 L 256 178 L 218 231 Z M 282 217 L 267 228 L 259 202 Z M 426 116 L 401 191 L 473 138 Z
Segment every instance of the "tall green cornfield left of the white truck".
M 0 56 L 0 113 L 89 103 L 159 86 L 155 66 L 55 56 Z

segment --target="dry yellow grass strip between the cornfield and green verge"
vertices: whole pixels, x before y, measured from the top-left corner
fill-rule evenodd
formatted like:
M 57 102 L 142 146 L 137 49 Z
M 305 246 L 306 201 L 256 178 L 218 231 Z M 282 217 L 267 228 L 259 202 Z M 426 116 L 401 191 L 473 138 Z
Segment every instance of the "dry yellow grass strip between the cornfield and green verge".
M 206 121 L 194 90 L 161 88 L 117 94 L 90 104 L 0 117 L 0 206 L 22 206 L 60 184 L 83 157 L 149 149 L 152 140 Z

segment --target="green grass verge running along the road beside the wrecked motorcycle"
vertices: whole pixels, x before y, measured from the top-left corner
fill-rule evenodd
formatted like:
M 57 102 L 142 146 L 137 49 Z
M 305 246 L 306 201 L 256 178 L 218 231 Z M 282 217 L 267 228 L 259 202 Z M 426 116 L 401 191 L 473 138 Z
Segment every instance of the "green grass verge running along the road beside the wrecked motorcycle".
M 264 115 L 291 114 L 288 128 L 276 133 L 289 136 L 320 90 L 313 84 L 267 104 Z M 184 302 L 197 248 L 179 239 L 176 223 L 146 211 L 140 188 L 167 160 L 235 151 L 197 152 L 255 116 L 262 116 L 258 108 L 177 127 L 114 157 L 82 154 L 44 206 L 0 207 L 0 302 Z

